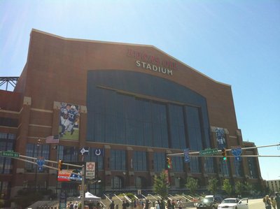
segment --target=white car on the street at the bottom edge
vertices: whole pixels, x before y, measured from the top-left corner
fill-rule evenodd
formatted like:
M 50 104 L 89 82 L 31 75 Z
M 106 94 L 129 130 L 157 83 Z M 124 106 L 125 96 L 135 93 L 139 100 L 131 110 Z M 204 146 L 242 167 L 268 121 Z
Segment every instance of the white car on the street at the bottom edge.
M 218 209 L 248 209 L 248 199 L 227 198 L 218 205 Z

